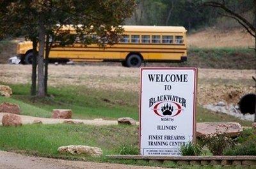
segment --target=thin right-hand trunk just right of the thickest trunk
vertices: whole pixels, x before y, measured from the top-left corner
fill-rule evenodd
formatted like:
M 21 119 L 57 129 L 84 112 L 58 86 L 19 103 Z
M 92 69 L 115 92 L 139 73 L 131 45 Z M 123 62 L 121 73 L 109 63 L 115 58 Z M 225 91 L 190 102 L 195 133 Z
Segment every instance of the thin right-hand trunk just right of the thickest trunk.
M 44 91 L 45 95 L 47 95 L 47 80 L 48 80 L 48 64 L 49 64 L 49 54 L 51 49 L 49 34 L 46 35 L 45 41 L 45 64 L 44 64 Z

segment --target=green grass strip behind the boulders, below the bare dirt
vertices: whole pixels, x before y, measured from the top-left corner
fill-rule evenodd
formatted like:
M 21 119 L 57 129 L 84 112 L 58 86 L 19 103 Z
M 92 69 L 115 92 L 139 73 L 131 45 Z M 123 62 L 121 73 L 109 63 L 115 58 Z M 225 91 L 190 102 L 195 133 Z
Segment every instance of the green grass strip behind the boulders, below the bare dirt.
M 29 96 L 29 85 L 10 85 L 11 98 L 0 97 L 0 103 L 8 101 L 20 105 L 23 115 L 51 117 L 54 108 L 72 109 L 73 119 L 117 119 L 131 117 L 138 121 L 139 94 L 137 92 L 88 89 L 84 86 L 49 87 L 49 97 L 44 99 Z M 197 122 L 234 121 L 243 126 L 252 122 L 242 121 L 227 114 L 217 114 L 197 107 Z

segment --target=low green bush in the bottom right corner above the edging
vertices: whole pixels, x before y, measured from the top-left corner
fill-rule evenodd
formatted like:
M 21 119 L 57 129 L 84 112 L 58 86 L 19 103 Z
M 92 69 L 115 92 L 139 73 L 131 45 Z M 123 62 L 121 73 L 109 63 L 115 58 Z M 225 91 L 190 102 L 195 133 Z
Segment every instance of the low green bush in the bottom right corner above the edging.
M 225 156 L 256 156 L 256 138 L 252 138 L 239 145 L 223 151 Z

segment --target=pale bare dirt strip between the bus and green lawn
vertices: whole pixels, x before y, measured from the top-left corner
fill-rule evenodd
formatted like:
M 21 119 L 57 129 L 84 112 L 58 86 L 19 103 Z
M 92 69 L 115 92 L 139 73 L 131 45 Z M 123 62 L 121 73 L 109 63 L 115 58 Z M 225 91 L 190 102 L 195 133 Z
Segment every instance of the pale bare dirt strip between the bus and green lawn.
M 254 70 L 198 70 L 198 103 L 226 101 L 236 104 L 245 93 L 254 92 Z M 0 64 L 0 83 L 29 84 L 31 65 Z M 104 90 L 138 92 L 140 68 L 92 65 L 49 65 L 49 85 L 84 85 Z

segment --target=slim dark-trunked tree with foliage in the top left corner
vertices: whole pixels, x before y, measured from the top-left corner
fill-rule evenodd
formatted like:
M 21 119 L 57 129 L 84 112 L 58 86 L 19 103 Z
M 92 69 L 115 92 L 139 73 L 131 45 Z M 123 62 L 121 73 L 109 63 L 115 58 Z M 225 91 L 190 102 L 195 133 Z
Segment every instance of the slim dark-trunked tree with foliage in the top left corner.
M 26 8 L 28 1 L 20 4 L 19 8 L 23 8 L 24 12 L 19 13 L 16 10 L 14 1 L 0 1 L 0 37 L 10 38 L 23 36 L 27 40 L 33 42 L 33 62 L 31 74 L 31 95 L 36 95 L 36 48 L 38 43 L 38 33 L 34 20 L 34 11 Z M 26 24 L 30 23 L 30 24 Z

